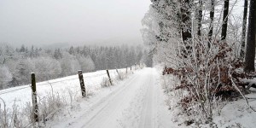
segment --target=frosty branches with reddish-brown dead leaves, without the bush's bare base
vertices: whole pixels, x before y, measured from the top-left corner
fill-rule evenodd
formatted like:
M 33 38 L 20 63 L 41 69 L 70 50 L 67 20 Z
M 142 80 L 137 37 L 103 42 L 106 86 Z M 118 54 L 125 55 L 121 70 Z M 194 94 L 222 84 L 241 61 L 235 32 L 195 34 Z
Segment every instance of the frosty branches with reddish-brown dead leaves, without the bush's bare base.
M 188 108 L 189 103 L 199 99 L 207 101 L 209 99 L 206 98 L 213 96 L 224 99 L 240 96 L 232 86 L 232 81 L 242 92 L 245 90 L 245 84 L 241 79 L 247 79 L 250 76 L 242 71 L 244 64 L 233 55 L 231 47 L 224 42 L 218 42 L 212 44 L 211 49 L 206 51 L 203 44 L 196 44 L 195 55 L 181 58 L 185 60 L 181 67 L 164 68 L 163 75 L 172 74 L 180 79 L 180 84 L 175 90 L 189 90 L 189 96 L 180 101 L 185 109 Z

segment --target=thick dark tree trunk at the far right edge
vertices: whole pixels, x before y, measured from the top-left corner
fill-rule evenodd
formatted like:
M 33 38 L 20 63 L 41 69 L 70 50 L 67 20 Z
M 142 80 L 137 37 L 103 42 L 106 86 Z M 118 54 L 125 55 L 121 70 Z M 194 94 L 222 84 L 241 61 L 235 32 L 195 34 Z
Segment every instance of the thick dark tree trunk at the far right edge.
M 256 29 L 256 2 L 251 0 L 247 30 L 247 50 L 245 56 L 244 71 L 254 72 L 254 60 L 255 60 L 255 30 Z

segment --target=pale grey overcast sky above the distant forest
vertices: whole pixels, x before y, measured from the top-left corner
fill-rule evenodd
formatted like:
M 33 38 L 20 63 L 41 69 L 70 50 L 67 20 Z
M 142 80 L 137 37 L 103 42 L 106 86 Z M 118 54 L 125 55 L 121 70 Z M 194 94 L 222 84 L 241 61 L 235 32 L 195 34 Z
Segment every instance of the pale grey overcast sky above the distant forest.
M 142 44 L 150 0 L 0 0 L 0 43 Z

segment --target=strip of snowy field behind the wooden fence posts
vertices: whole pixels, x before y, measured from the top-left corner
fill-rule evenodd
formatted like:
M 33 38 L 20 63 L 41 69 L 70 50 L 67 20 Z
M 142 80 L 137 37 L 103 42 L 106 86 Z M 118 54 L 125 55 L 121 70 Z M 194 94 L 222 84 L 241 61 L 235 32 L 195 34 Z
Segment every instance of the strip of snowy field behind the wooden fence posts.
M 125 70 L 126 69 L 119 69 L 119 72 L 125 72 Z M 116 70 L 109 70 L 109 73 L 112 78 L 115 78 L 118 75 Z M 84 84 L 88 95 L 96 93 L 96 91 L 101 88 L 102 79 L 108 77 L 106 70 L 101 70 L 94 73 L 84 73 L 83 75 Z M 71 91 L 77 92 L 77 95 L 81 95 L 79 75 L 37 83 L 39 101 L 44 96 L 48 96 L 50 93 L 69 98 Z M 0 98 L 2 98 L 5 102 L 7 109 L 13 109 L 12 107 L 14 103 L 18 106 L 18 108 L 23 108 L 26 106 L 27 102 L 32 103 L 32 89 L 30 85 L 23 85 L 6 90 L 0 90 Z M 3 103 L 3 101 L 0 101 L 0 103 Z

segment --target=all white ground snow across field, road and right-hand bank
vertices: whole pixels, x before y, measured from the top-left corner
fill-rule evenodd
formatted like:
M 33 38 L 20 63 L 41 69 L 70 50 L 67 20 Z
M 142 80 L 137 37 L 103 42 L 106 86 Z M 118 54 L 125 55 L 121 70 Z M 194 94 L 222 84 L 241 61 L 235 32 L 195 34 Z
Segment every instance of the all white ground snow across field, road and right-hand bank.
M 45 127 L 93 127 L 93 128 L 176 128 L 176 127 L 210 127 L 209 125 L 185 125 L 189 119 L 177 106 L 178 99 L 167 96 L 162 88 L 163 78 L 158 68 L 143 68 L 131 73 L 128 79 L 116 82 L 107 88 L 101 87 L 102 78 L 107 77 L 105 70 L 96 73 L 84 73 L 86 90 L 90 92 L 87 98 L 79 98 L 73 105 L 61 108 L 49 119 Z M 119 71 L 125 72 L 125 69 Z M 109 71 L 116 76 L 115 70 Z M 175 84 L 174 79 L 168 79 L 167 85 Z M 51 83 L 51 85 L 49 85 Z M 47 96 L 53 91 L 68 96 L 68 90 L 76 90 L 81 95 L 78 75 L 54 79 L 38 83 L 38 97 Z M 172 92 L 172 90 L 168 90 Z M 246 95 L 249 104 L 256 107 L 256 90 Z M 172 93 L 168 95 L 172 95 Z M 11 109 L 14 102 L 20 107 L 31 102 L 29 85 L 1 90 L 0 97 Z M 39 98 L 40 99 L 40 98 Z M 169 110 L 169 108 L 171 108 Z M 199 118 L 200 116 L 195 116 Z M 213 113 L 215 127 L 245 127 L 256 125 L 256 113 L 250 109 L 242 98 L 233 102 L 221 102 Z

